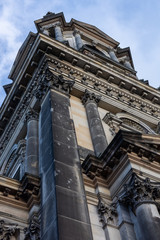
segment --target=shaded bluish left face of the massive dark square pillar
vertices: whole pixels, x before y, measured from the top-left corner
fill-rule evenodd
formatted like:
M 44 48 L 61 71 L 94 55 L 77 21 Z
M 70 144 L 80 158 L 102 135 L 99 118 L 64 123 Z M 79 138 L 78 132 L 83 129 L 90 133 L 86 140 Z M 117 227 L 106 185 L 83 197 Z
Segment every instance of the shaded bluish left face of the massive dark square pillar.
M 47 118 L 45 119 L 45 116 Z M 51 102 L 48 94 L 40 113 L 40 175 L 41 185 L 41 238 L 58 240 L 56 192 L 54 178 L 53 136 L 51 124 Z

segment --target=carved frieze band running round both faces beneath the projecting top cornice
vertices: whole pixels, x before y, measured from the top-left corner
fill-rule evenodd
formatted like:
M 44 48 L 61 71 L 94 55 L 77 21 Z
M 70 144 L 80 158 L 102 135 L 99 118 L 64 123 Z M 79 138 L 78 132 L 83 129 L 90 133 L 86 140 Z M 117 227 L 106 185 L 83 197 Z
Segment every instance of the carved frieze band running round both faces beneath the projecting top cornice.
M 73 80 L 64 81 L 65 79 L 64 75 L 65 76 L 68 75 L 68 78 L 70 79 L 71 72 L 72 72 L 72 76 L 74 77 L 74 79 L 76 79 L 75 82 L 79 84 L 83 84 L 85 88 L 87 84 L 90 88 L 93 88 L 93 89 L 95 89 L 95 87 L 98 87 L 99 89 L 98 92 L 106 96 L 108 95 L 110 99 L 114 101 L 115 100 L 121 101 L 123 104 L 126 104 L 129 107 L 134 107 L 134 109 L 145 112 L 146 114 L 149 114 L 153 117 L 160 118 L 160 109 L 157 106 L 150 103 L 148 100 L 145 101 L 144 99 L 142 100 L 136 97 L 136 95 L 133 98 L 132 94 L 129 94 L 127 91 L 115 87 L 115 84 L 112 84 L 112 81 L 114 81 L 113 76 L 109 76 L 108 79 L 104 81 L 104 80 L 101 80 L 101 78 L 93 77 L 87 72 L 84 73 L 72 66 L 68 66 L 67 64 L 61 63 L 57 59 L 55 60 L 54 58 L 46 58 L 41 64 L 40 68 L 37 69 L 37 72 L 34 74 L 34 77 L 32 77 L 32 81 L 30 81 L 29 86 L 26 88 L 27 89 L 26 92 L 21 97 L 21 100 L 17 105 L 15 113 L 11 117 L 10 122 L 7 124 L 7 127 L 3 132 L 3 135 L 1 136 L 0 155 L 2 154 L 2 150 L 8 144 L 8 139 L 10 139 L 11 135 L 14 133 L 16 127 L 18 126 L 18 123 L 22 119 L 24 112 L 28 108 L 33 98 L 33 95 L 35 95 L 35 89 L 36 89 L 36 97 L 38 99 L 42 98 L 45 92 L 47 91 L 48 83 L 46 86 L 43 80 L 45 79 L 44 74 L 49 64 L 53 66 L 52 67 L 53 71 L 56 74 L 58 73 L 58 75 L 56 75 L 55 77 L 55 80 L 53 81 L 53 87 L 57 89 L 61 88 L 62 91 L 64 92 L 69 92 L 71 90 L 71 88 L 73 87 L 74 81 Z M 61 70 L 63 70 L 63 73 L 64 73 L 63 76 L 60 74 L 62 72 Z M 132 106 L 130 103 L 132 103 Z M 144 106 L 142 107 L 142 105 Z

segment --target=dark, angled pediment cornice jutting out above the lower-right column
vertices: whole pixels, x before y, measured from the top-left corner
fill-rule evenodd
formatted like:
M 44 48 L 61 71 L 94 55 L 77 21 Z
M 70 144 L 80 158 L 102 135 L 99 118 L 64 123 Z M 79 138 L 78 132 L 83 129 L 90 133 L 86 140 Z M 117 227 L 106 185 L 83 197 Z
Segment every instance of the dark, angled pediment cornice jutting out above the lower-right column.
M 139 160 L 146 159 L 144 164 L 152 166 L 152 162 L 160 163 L 160 141 L 154 142 L 154 135 L 151 141 L 145 139 L 145 135 L 119 131 L 110 145 L 100 157 L 88 155 L 82 163 L 84 173 L 94 179 L 101 177 L 108 179 L 123 162 L 130 161 L 130 154 L 135 154 Z M 127 155 L 127 157 L 126 157 Z

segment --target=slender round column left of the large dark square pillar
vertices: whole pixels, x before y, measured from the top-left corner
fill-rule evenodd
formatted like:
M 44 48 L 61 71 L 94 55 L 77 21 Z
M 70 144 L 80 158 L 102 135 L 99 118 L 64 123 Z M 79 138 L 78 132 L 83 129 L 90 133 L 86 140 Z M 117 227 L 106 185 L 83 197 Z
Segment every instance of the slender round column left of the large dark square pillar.
M 30 109 L 26 114 L 27 146 L 25 172 L 38 176 L 38 113 Z

